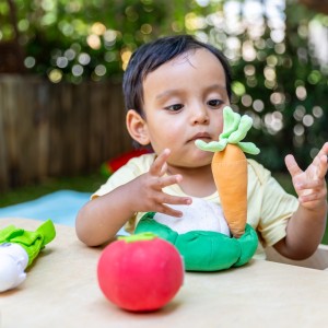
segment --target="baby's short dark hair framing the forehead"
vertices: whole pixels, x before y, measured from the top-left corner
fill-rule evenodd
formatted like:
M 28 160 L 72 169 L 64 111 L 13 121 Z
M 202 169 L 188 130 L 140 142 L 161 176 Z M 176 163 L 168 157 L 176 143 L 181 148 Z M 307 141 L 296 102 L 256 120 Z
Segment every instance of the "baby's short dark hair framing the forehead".
M 224 55 L 215 47 L 197 40 L 191 35 L 166 36 L 144 44 L 131 56 L 124 75 L 122 89 L 127 109 L 142 115 L 143 87 L 147 75 L 163 63 L 191 49 L 204 48 L 221 62 L 225 73 L 226 92 L 231 98 L 231 69 Z

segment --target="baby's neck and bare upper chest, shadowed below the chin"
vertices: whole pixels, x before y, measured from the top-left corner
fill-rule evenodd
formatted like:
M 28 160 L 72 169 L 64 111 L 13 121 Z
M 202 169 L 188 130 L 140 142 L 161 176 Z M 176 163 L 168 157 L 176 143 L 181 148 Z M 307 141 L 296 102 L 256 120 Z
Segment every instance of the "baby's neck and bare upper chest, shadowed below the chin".
M 211 165 L 201 167 L 168 166 L 167 173 L 169 175 L 180 174 L 183 176 L 179 187 L 189 196 L 207 197 L 216 190 Z

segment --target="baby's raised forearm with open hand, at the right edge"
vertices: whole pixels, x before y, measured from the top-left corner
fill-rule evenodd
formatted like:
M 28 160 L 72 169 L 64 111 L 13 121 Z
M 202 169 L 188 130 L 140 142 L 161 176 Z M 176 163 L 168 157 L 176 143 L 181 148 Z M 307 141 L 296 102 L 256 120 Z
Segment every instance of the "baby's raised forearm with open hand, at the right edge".
M 327 220 L 328 142 L 326 142 L 306 171 L 302 171 L 292 155 L 285 157 L 298 195 L 300 206 L 286 227 L 286 236 L 274 245 L 283 256 L 304 259 L 318 247 L 325 233 Z

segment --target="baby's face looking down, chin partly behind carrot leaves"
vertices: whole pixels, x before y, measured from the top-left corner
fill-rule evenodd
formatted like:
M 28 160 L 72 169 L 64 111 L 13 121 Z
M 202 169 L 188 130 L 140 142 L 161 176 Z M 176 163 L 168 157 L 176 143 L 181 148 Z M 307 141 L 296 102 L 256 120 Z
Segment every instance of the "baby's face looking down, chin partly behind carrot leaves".
M 230 104 L 225 74 L 207 49 L 184 54 L 149 73 L 143 82 L 144 128 L 155 153 L 172 153 L 168 164 L 198 167 L 211 163 L 212 153 L 195 140 L 218 140 L 222 109 Z

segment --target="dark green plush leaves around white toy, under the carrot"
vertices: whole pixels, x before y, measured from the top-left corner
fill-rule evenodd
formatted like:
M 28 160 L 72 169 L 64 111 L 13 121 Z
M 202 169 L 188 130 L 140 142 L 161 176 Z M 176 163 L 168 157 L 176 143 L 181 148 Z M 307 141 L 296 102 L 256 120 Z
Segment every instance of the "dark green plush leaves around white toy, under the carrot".
M 154 214 L 147 213 L 137 225 L 136 233 L 151 231 L 172 243 L 184 257 L 187 271 L 219 271 L 241 267 L 249 261 L 257 249 L 257 234 L 248 224 L 241 238 L 232 238 L 211 231 L 178 234 L 167 225 L 153 220 Z

